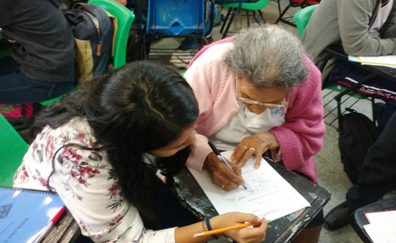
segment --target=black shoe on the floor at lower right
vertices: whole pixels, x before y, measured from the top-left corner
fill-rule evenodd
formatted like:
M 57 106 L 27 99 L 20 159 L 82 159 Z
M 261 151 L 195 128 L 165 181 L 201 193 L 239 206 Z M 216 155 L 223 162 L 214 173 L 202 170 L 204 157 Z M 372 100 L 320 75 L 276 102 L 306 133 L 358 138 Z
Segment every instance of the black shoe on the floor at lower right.
M 354 210 L 348 206 L 346 201 L 331 209 L 324 218 L 324 222 L 326 222 L 327 226 L 326 228 L 329 230 L 336 230 L 347 226 L 350 223 L 350 215 L 353 211 Z

